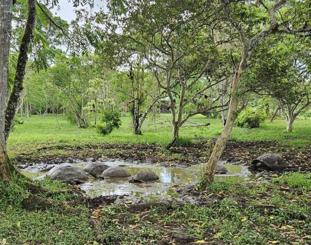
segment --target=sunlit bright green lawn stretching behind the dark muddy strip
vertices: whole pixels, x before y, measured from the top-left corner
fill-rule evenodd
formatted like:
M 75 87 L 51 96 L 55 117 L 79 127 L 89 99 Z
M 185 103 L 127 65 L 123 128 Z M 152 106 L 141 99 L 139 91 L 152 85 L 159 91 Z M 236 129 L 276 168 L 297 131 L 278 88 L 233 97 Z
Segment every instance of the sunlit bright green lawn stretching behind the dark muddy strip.
M 156 144 L 165 146 L 171 139 L 170 114 L 161 114 L 156 118 L 147 119 L 142 127 L 143 135 L 133 135 L 131 128 L 131 117 L 121 117 L 120 129 L 114 130 L 107 136 L 96 132 L 94 127 L 79 129 L 70 124 L 63 116 L 59 115 L 60 129 L 57 129 L 56 120 L 53 115 L 41 117 L 33 115 L 29 121 L 24 118 L 24 123 L 17 125 L 8 139 L 8 150 L 10 155 L 33 150 L 37 147 L 84 147 L 86 145 L 99 144 Z M 180 144 L 208 140 L 217 137 L 222 131 L 219 119 L 207 118 L 196 115 L 190 119 L 193 122 L 207 123 L 207 127 L 190 127 L 180 129 Z M 162 124 L 159 124 L 161 122 Z M 243 129 L 235 127 L 230 140 L 233 141 L 275 141 L 283 146 L 307 147 L 311 145 L 311 118 L 297 119 L 294 122 L 294 131 L 285 132 L 285 120 L 276 119 L 273 123 L 265 122 L 259 129 Z

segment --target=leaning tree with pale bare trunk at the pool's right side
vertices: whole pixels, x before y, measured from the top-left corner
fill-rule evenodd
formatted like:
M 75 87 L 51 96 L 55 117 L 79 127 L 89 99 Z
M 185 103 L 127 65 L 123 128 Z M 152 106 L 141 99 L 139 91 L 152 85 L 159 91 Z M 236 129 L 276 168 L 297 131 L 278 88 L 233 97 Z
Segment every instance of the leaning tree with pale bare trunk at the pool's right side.
M 255 2 L 240 2 L 240 1 L 225 1 L 222 0 L 223 14 L 225 14 L 228 22 L 234 27 L 241 39 L 241 55 L 239 65 L 237 66 L 231 89 L 230 104 L 228 109 L 228 116 L 222 134 L 217 139 L 213 148 L 212 154 L 207 163 L 206 179 L 212 181 L 216 170 L 217 163 L 228 141 L 232 131 L 236 110 L 239 101 L 239 83 L 242 72 L 247 67 L 253 49 L 268 35 L 276 32 L 280 33 L 304 33 L 310 32 L 311 28 L 306 27 L 305 20 L 299 18 L 297 21 L 296 15 L 293 14 L 293 9 L 298 8 L 303 13 L 308 12 L 308 4 L 300 4 L 297 7 L 296 2 L 293 2 L 290 7 L 284 7 L 286 0 L 279 0 L 277 2 L 255 1 Z M 266 5 L 269 4 L 269 5 Z M 280 11 L 286 13 L 286 20 Z M 280 23 L 281 22 L 281 23 Z M 292 23 L 292 27 L 289 27 Z M 282 28 L 285 27 L 285 28 Z M 293 29 L 295 28 L 295 29 Z

